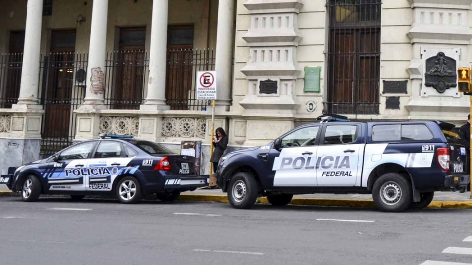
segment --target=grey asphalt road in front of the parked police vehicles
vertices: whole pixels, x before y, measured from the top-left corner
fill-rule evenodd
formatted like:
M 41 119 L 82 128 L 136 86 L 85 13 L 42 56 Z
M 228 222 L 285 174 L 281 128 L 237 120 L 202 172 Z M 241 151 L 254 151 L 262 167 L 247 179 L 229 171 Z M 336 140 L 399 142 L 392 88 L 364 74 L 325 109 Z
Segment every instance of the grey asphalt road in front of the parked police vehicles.
M 1 264 L 471 263 L 469 236 L 470 209 L 0 197 Z

